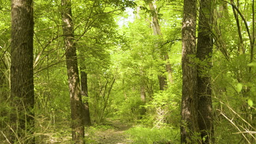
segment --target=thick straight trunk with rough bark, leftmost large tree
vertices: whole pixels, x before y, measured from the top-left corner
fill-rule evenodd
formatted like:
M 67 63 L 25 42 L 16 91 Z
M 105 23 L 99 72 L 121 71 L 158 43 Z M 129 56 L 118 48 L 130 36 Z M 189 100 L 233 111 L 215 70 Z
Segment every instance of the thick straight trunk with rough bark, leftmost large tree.
M 33 1 L 11 1 L 11 67 L 10 96 L 11 128 L 20 141 L 34 143 L 34 138 L 26 140 L 34 132 L 34 82 L 33 82 Z M 10 141 L 16 136 L 11 133 Z

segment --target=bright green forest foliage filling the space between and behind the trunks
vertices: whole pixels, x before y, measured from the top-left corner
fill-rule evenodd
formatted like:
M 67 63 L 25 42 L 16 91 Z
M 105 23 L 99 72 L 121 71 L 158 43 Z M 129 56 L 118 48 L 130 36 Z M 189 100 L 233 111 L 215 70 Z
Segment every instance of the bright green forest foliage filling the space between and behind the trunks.
M 252 1 L 239 2 L 239 9 L 252 31 Z M 161 37 L 153 35 L 148 1 L 72 1 L 78 63 L 88 74 L 88 101 L 95 124 L 86 128 L 88 143 L 97 142 L 97 131 L 113 129 L 109 124 L 97 125 L 106 124 L 106 118 L 147 126 L 127 130 L 133 143 L 179 143 L 183 1 L 158 0 L 155 4 Z M 215 44 L 212 55 L 205 61 L 196 56 L 191 59 L 199 66 L 200 76 L 211 75 L 216 143 L 245 143 L 246 138 L 254 140 L 253 137 L 234 133 L 253 130 L 249 124 L 255 127 L 256 63 L 250 56 L 249 37 L 241 17 L 238 19 L 245 50 L 238 51 L 241 42 L 237 23 L 231 5 L 220 10 L 223 4 L 223 1 L 214 4 L 219 14 L 212 31 Z M 10 5 L 10 1 L 0 0 L 0 143 L 5 140 L 2 132 L 8 134 L 11 131 L 6 127 L 8 113 L 11 113 L 8 104 Z M 140 10 L 136 11 L 137 7 Z M 61 1 L 34 1 L 33 8 L 34 135 L 38 143 L 72 143 Z M 224 51 L 228 58 L 223 55 Z M 164 67 L 167 61 L 159 58 L 161 52 L 167 52 L 170 57 L 174 81 L 168 82 L 166 91 L 159 91 L 158 75 L 164 72 L 167 76 Z M 212 64 L 210 67 L 200 68 L 209 63 Z M 141 100 L 141 87 L 145 90 L 145 103 Z M 142 115 L 143 110 L 146 110 L 145 115 Z

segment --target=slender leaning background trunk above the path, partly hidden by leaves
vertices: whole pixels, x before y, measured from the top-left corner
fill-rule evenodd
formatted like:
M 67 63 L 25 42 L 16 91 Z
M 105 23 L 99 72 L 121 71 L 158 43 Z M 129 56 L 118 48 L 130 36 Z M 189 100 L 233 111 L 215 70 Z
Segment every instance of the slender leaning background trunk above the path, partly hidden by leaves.
M 158 21 L 157 11 L 156 11 L 155 6 L 154 6 L 152 1 L 149 1 L 148 5 L 149 5 L 150 10 L 152 11 L 153 34 L 159 36 L 158 41 L 160 41 L 159 44 L 161 44 L 162 33 L 161 33 L 161 27 L 160 27 L 159 21 Z M 156 45 L 156 47 L 158 47 L 159 44 Z M 166 61 L 166 65 L 161 65 L 161 67 L 165 67 L 165 69 L 168 73 L 168 76 L 169 76 L 168 79 L 172 83 L 173 82 L 173 80 L 172 80 L 172 69 L 171 69 L 170 62 L 168 61 L 168 59 L 169 59 L 168 53 L 165 50 L 162 50 L 162 49 L 160 51 L 161 51 L 160 52 L 161 61 Z M 160 72 L 161 73 L 158 75 L 159 87 L 160 87 L 160 90 L 165 90 L 167 88 L 167 77 L 166 77 L 164 71 L 160 71 Z

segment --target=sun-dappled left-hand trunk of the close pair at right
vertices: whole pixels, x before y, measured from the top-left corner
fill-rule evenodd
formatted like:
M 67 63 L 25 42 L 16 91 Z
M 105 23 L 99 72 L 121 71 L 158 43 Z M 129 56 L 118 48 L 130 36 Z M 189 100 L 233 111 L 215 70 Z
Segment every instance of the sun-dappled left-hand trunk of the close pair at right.
M 199 143 L 194 134 L 199 132 L 197 123 L 197 79 L 196 65 L 196 0 L 184 0 L 182 22 L 182 107 L 181 142 Z

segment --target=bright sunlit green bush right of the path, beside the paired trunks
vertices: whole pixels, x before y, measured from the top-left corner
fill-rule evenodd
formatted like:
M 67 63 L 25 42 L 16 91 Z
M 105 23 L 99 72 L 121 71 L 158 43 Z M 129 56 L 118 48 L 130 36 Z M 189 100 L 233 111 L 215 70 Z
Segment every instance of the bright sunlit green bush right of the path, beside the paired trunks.
M 166 91 L 154 94 L 152 101 L 146 104 L 148 124 L 162 127 L 166 124 L 177 127 L 180 119 L 181 83 Z M 151 125 L 151 124 L 150 124 Z

